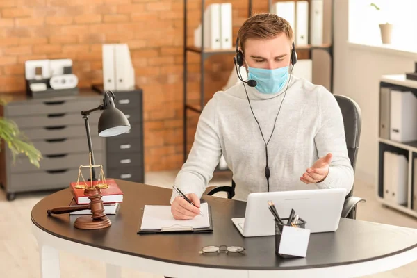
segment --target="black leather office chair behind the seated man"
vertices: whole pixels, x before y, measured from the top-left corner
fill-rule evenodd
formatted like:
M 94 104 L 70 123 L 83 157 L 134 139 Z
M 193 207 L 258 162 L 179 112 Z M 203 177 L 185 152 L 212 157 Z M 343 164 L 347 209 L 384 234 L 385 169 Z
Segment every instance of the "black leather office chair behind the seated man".
M 347 145 L 347 156 L 350 159 L 353 171 L 355 171 L 357 154 L 359 150 L 359 138 L 361 136 L 361 108 L 350 97 L 343 95 L 334 95 L 336 101 L 341 108 L 343 124 L 345 126 L 345 138 Z M 235 195 L 236 183 L 231 179 L 231 186 L 210 186 L 206 189 L 206 195 L 213 195 L 219 192 L 226 192 L 227 198 L 232 199 Z M 353 188 L 350 193 L 346 195 L 345 204 L 343 204 L 341 217 L 356 219 L 357 204 L 359 202 L 366 202 L 365 199 L 354 197 Z

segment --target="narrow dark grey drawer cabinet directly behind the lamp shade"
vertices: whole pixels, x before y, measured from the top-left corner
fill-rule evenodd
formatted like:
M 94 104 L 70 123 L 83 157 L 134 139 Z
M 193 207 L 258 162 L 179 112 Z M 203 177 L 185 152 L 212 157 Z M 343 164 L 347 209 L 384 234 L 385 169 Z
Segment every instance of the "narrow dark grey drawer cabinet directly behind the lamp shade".
M 95 85 L 93 89 L 104 93 L 102 85 Z M 115 106 L 126 115 L 131 129 L 120 136 L 106 138 L 106 177 L 144 183 L 142 89 L 113 92 Z

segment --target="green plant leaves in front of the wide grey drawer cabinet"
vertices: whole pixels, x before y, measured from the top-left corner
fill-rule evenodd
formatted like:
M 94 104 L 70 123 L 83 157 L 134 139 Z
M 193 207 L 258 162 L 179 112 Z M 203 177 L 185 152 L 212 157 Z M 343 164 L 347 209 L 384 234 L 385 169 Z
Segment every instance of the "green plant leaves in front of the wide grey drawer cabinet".
M 6 102 L 6 99 L 0 99 L 0 105 L 5 105 Z M 13 162 L 18 154 L 24 154 L 35 167 L 39 167 L 42 154 L 33 146 L 24 133 L 19 131 L 19 127 L 13 120 L 0 117 L 0 139 L 0 144 L 4 142 L 12 152 Z

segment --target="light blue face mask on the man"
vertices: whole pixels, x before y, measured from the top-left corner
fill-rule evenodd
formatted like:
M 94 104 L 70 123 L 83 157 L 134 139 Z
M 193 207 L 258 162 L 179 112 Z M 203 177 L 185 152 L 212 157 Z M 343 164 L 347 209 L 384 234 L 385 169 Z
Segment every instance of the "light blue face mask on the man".
M 279 92 L 288 80 L 288 66 L 274 70 L 258 69 L 256 67 L 247 67 L 247 69 L 247 77 L 255 80 L 256 90 L 264 94 Z

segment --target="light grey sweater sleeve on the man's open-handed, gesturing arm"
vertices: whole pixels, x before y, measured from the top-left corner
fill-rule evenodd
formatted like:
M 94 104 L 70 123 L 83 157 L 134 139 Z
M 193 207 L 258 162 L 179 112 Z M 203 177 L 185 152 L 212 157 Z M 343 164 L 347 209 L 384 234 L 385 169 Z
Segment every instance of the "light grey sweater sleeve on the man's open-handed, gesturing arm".
M 318 157 L 332 153 L 329 174 L 324 181 L 316 183 L 318 188 L 346 188 L 350 193 L 354 174 L 347 155 L 345 128 L 341 108 L 336 98 L 324 87 L 318 92 L 318 133 L 315 142 Z

